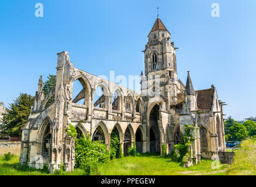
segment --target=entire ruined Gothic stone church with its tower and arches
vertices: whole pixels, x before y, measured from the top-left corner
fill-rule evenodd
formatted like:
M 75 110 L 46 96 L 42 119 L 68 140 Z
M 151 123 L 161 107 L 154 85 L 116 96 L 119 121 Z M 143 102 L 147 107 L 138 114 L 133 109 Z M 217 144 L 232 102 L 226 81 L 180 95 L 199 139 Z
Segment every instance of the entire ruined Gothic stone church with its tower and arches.
M 50 171 L 66 171 L 75 165 L 75 138 L 69 137 L 69 124 L 92 140 L 101 140 L 110 147 L 110 134 L 119 133 L 124 155 L 136 142 L 139 153 L 167 154 L 181 141 L 184 127 L 195 129 L 191 157 L 213 158 L 225 150 L 223 105 L 217 90 L 194 90 L 190 72 L 186 85 L 178 79 L 176 47 L 171 34 L 156 19 L 144 49 L 144 75 L 141 93 L 79 70 L 70 62 L 69 53 L 58 53 L 56 85 L 47 96 L 42 91 L 42 77 L 28 122 L 22 131 L 20 162 L 35 167 L 41 157 Z M 74 82 L 82 85 L 73 95 Z M 96 90 L 102 95 L 96 98 Z M 50 102 L 53 101 L 53 102 Z M 81 102 L 82 101 L 82 102 Z

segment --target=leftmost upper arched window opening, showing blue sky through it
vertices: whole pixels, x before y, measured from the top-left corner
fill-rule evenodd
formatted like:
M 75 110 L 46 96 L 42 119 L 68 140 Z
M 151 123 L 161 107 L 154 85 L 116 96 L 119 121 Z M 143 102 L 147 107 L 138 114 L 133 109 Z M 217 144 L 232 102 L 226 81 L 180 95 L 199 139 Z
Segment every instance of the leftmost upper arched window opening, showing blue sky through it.
M 73 83 L 72 102 L 78 103 L 80 105 L 85 105 L 86 104 L 85 96 L 86 96 L 86 91 L 85 91 L 85 88 L 83 88 L 81 80 L 76 79 L 76 81 Z

